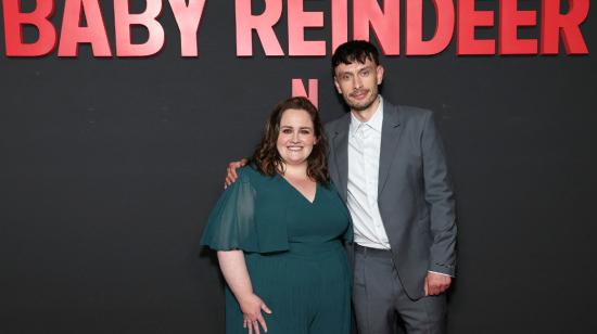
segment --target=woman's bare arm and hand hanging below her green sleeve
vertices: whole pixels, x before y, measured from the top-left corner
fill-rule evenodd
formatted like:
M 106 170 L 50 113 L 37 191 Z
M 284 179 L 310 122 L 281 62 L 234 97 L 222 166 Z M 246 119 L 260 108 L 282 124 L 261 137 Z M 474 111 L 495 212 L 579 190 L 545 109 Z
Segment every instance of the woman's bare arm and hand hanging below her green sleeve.
M 244 262 L 244 254 L 242 251 L 218 251 L 217 254 L 224 279 L 241 307 L 244 318 L 243 326 L 249 327 L 250 334 L 253 329 L 255 329 L 255 334 L 259 334 L 261 323 L 264 331 L 267 332 L 262 310 L 266 313 L 271 313 L 271 310 L 253 293 L 253 285 Z

